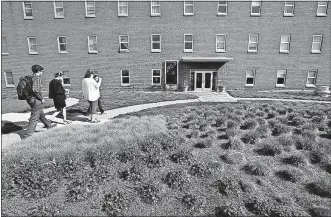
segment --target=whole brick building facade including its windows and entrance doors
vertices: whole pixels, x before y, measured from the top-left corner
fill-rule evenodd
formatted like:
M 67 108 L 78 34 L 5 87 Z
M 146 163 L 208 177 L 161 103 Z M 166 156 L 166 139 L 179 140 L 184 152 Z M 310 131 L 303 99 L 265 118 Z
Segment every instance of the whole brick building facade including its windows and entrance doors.
M 31 65 L 105 88 L 212 91 L 331 84 L 327 1 L 2 1 L 2 92 Z

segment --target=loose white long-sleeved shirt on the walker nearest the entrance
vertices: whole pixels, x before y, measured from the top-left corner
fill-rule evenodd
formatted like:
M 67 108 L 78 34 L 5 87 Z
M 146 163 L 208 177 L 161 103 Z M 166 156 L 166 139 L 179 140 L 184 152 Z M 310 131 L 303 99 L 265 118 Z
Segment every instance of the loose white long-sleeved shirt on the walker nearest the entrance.
M 98 100 L 100 97 L 100 85 L 101 79 L 97 83 L 93 78 L 84 78 L 82 81 L 84 99 L 88 101 Z

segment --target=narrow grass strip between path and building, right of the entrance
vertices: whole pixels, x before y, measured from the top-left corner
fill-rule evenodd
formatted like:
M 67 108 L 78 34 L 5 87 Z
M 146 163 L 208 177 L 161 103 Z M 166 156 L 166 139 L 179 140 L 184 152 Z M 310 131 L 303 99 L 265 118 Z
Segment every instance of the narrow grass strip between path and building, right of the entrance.
M 275 99 L 300 99 L 331 101 L 330 95 L 322 97 L 314 92 L 308 91 L 256 91 L 256 90 L 233 90 L 227 91 L 231 96 L 237 98 L 275 98 Z

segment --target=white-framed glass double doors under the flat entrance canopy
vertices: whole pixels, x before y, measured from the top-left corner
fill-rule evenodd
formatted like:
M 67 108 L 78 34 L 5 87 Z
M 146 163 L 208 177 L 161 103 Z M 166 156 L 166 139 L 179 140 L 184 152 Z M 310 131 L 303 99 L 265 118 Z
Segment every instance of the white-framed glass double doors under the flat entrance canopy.
M 194 90 L 195 91 L 211 91 L 213 82 L 212 71 L 195 71 L 194 76 Z

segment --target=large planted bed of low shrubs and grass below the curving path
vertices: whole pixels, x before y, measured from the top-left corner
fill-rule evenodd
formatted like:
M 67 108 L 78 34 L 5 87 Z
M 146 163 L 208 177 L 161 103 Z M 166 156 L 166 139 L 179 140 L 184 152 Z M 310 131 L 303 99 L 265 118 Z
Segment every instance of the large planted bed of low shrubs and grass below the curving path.
M 328 105 L 290 102 L 174 105 L 70 125 L 3 151 L 2 213 L 330 215 L 330 132 Z

